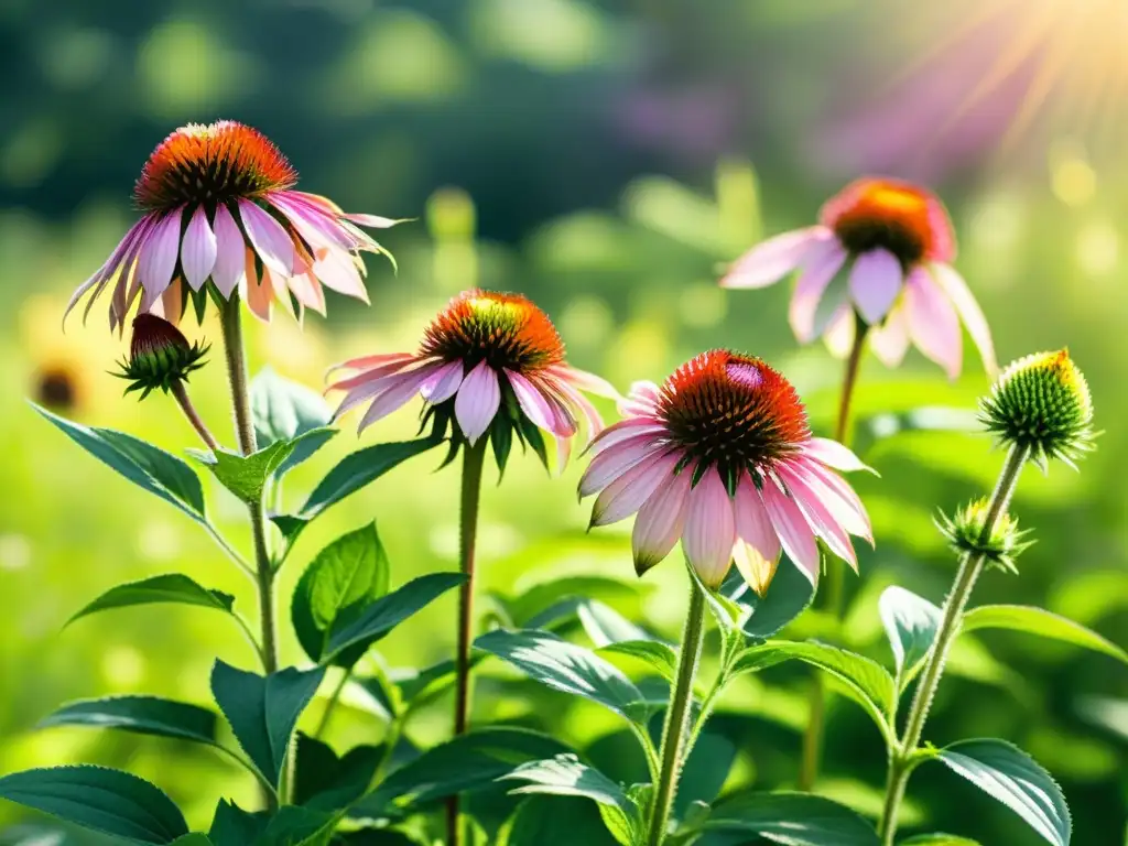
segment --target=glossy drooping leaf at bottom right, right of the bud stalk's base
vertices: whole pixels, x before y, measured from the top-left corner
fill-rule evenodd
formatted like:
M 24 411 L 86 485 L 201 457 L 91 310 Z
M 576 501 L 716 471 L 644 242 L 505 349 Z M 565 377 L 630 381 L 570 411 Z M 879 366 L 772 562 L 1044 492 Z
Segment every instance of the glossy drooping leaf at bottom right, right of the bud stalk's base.
M 1061 788 L 1038 763 L 1003 740 L 961 740 L 936 757 L 953 773 L 1002 802 L 1055 846 L 1068 846 L 1073 832 Z

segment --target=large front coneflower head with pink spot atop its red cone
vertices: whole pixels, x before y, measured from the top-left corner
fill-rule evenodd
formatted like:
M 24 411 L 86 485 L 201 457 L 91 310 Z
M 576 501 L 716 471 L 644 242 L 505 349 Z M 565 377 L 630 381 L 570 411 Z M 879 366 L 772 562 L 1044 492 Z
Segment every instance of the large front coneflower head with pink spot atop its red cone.
M 580 495 L 599 493 L 605 526 L 638 512 L 640 574 L 681 547 L 716 588 L 734 562 L 763 594 L 781 547 L 813 583 L 816 539 L 857 567 L 851 535 L 872 543 L 870 521 L 835 470 L 863 465 L 836 441 L 812 438 L 795 389 L 759 359 L 702 353 L 659 387 L 635 386 L 626 418 L 594 440 Z

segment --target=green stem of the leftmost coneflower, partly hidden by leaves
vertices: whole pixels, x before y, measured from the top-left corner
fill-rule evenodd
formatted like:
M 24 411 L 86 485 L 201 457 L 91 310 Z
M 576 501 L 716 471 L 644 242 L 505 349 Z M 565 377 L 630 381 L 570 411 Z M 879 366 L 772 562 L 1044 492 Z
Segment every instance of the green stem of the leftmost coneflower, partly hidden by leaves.
M 235 412 L 235 431 L 239 451 L 249 456 L 257 450 L 255 424 L 250 415 L 250 391 L 247 387 L 247 354 L 243 343 L 243 323 L 239 298 L 232 296 L 221 310 L 223 352 L 227 373 L 231 382 L 231 407 Z M 261 647 L 263 670 L 270 675 L 279 669 L 277 640 L 274 623 L 274 566 L 266 545 L 266 513 L 262 502 L 247 505 L 250 515 L 250 535 L 255 549 L 255 582 L 258 588 L 258 618 L 262 628 Z M 273 808 L 277 797 L 267 795 L 267 807 Z

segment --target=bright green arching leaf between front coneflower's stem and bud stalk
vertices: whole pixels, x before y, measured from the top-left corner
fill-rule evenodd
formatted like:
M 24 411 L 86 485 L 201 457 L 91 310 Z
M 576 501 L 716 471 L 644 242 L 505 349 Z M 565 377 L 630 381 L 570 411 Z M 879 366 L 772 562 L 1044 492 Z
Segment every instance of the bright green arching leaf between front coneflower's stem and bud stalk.
M 733 675 L 763 670 L 790 660 L 826 670 L 841 681 L 845 690 L 873 717 L 887 737 L 890 734 L 888 715 L 896 698 L 893 678 L 876 661 L 828 646 L 823 643 L 768 641 L 746 649 L 733 664 Z

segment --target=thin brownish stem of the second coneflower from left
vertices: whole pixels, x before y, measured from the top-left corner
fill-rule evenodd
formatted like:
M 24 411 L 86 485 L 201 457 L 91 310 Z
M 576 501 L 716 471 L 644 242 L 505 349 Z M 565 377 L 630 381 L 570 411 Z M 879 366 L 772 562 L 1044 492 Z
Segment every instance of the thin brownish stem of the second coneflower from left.
M 462 499 L 459 518 L 459 558 L 466 581 L 458 593 L 458 652 L 455 655 L 455 737 L 466 733 L 470 712 L 470 640 L 474 634 L 474 548 L 478 534 L 478 501 L 482 495 L 482 465 L 487 439 L 462 450 Z M 459 846 L 462 831 L 459 797 L 447 800 L 447 846 Z

